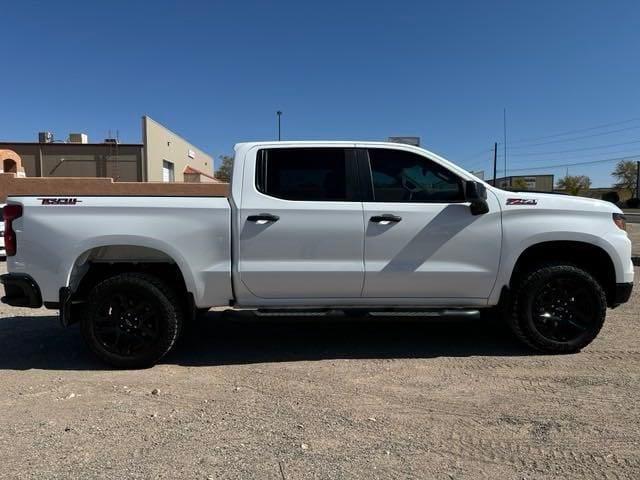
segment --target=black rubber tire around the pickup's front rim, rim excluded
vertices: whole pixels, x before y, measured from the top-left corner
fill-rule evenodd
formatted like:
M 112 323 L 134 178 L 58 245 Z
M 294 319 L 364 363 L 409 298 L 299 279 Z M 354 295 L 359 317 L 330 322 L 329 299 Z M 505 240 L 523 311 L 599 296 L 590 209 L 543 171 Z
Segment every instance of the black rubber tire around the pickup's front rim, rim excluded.
M 557 279 L 571 279 L 590 295 L 591 315 L 588 328 L 576 338 L 558 341 L 540 333 L 534 322 L 533 303 L 536 295 L 549 282 Z M 506 320 L 516 337 L 531 348 L 544 353 L 578 352 L 593 341 L 604 324 L 607 299 L 602 286 L 586 271 L 563 263 L 549 263 L 537 266 L 524 273 L 510 295 L 505 306 Z

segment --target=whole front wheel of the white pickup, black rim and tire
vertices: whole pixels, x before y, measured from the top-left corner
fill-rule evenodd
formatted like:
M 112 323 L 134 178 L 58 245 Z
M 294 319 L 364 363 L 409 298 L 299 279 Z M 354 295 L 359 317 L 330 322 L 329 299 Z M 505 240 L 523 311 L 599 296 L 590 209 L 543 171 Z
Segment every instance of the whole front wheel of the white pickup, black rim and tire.
M 573 265 L 532 269 L 518 282 L 507 309 L 515 335 L 546 353 L 572 353 L 600 332 L 607 299 L 600 284 Z

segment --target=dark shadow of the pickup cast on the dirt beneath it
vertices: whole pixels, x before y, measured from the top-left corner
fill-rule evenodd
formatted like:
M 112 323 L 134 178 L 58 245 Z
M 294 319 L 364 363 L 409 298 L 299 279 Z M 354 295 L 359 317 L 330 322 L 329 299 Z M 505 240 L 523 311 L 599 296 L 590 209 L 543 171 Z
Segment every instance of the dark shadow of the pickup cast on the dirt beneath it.
M 424 317 L 256 317 L 213 313 L 185 328 L 161 363 L 213 366 L 322 359 L 530 355 L 499 322 Z M 0 319 L 0 370 L 104 370 L 77 325 Z

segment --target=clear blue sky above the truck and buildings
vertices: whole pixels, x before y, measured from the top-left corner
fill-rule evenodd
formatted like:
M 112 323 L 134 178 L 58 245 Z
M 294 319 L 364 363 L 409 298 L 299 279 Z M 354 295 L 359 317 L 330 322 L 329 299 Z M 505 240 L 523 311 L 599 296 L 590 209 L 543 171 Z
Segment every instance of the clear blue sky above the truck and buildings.
M 235 142 L 273 139 L 280 109 L 285 139 L 418 135 L 466 168 L 489 170 L 506 107 L 509 171 L 640 154 L 638 1 L 0 8 L 0 140 L 52 130 L 97 141 L 111 129 L 139 142 L 148 114 L 218 156 Z M 605 186 L 614 163 L 569 173 Z

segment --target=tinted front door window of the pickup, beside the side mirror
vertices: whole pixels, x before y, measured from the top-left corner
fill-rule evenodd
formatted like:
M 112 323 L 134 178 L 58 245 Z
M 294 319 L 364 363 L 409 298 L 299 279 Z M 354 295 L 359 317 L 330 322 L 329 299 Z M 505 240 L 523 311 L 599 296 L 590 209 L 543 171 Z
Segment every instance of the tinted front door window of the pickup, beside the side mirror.
M 446 168 L 415 153 L 385 148 L 369 149 L 376 202 L 459 202 L 462 180 Z

